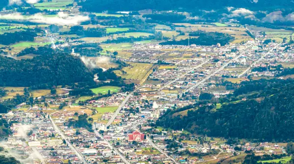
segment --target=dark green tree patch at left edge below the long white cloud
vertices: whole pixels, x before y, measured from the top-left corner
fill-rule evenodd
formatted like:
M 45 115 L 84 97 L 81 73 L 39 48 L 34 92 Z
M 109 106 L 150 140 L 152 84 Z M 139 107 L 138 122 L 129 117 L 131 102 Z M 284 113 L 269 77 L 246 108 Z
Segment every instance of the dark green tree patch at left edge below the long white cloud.
M 37 34 L 31 30 L 14 33 L 4 33 L 0 35 L 0 44 L 10 45 L 20 41 L 34 41 Z

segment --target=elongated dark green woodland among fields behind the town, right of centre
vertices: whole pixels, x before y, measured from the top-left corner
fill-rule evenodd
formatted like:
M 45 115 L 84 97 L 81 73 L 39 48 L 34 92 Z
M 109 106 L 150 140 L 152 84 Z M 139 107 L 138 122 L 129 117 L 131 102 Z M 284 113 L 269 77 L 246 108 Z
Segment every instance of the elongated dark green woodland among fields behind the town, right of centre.
M 196 44 L 196 45 L 216 45 L 217 43 L 221 43 L 221 45 L 225 45 L 232 41 L 234 37 L 219 33 L 219 32 L 204 32 L 204 31 L 196 31 L 193 33 L 190 33 L 189 36 L 198 37 L 198 38 L 191 38 L 190 39 L 190 45 Z M 161 42 L 162 45 L 188 45 L 189 41 L 186 40 L 180 40 L 180 41 L 165 41 Z

